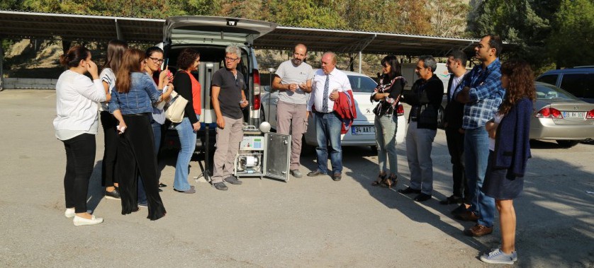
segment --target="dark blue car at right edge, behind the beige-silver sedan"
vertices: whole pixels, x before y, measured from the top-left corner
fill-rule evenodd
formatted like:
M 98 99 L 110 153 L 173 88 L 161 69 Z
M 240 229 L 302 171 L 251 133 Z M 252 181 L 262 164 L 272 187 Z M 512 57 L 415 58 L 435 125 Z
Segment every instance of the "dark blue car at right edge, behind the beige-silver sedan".
M 563 88 L 588 103 L 594 103 L 594 66 L 546 71 L 537 81 Z

